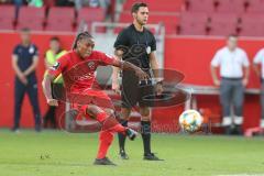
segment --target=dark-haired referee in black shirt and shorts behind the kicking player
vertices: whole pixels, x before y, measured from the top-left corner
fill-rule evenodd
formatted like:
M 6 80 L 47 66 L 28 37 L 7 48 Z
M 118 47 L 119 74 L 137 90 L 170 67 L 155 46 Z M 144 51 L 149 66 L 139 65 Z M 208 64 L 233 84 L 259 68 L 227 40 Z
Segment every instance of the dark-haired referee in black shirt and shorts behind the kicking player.
M 148 8 L 145 3 L 134 3 L 131 10 L 133 23 L 119 33 L 114 43 L 114 55 L 119 59 L 131 62 L 141 67 L 143 70 L 157 77 L 158 64 L 155 56 L 156 40 L 151 31 L 144 28 L 148 18 Z M 118 74 L 119 69 L 113 67 L 112 89 L 119 91 Z M 144 160 L 160 161 L 151 151 L 151 116 L 150 108 L 143 101 L 143 97 L 147 95 L 161 94 L 163 91 L 162 81 L 152 86 L 152 81 L 139 84 L 139 79 L 131 72 L 122 72 L 122 108 L 121 123 L 128 127 L 131 109 L 139 103 L 141 113 L 141 131 L 144 145 Z M 144 85 L 145 84 L 145 85 Z M 124 150 L 125 136 L 119 134 L 120 156 L 128 160 Z

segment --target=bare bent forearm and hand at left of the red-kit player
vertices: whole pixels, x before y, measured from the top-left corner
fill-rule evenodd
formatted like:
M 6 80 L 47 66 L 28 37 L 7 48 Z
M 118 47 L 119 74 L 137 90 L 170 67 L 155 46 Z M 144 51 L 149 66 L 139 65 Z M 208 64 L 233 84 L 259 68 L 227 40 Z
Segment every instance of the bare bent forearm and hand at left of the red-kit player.
M 46 97 L 46 101 L 50 106 L 58 106 L 57 100 L 53 99 L 53 97 L 52 97 L 52 81 L 54 79 L 55 79 L 55 76 L 47 74 L 42 81 L 43 92 L 44 92 L 44 95 Z

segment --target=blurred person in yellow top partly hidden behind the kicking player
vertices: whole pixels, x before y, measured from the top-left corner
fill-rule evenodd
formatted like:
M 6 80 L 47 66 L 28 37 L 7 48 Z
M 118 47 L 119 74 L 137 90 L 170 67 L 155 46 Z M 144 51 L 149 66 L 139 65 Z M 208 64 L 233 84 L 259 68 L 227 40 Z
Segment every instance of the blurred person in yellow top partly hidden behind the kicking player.
M 54 36 L 50 41 L 50 50 L 45 54 L 45 66 L 46 69 L 53 66 L 56 61 L 63 56 L 66 53 L 65 50 L 61 46 L 61 41 L 58 37 Z M 47 73 L 45 73 L 46 75 Z M 44 76 L 45 76 L 44 75 Z M 62 75 L 58 76 L 53 82 L 52 82 L 52 89 L 53 89 L 53 97 L 56 99 L 59 90 L 63 89 L 63 77 Z M 48 127 L 48 123 L 53 129 L 56 128 L 56 118 L 55 118 L 56 107 L 52 106 L 48 107 L 48 110 L 46 114 L 44 116 L 44 128 Z

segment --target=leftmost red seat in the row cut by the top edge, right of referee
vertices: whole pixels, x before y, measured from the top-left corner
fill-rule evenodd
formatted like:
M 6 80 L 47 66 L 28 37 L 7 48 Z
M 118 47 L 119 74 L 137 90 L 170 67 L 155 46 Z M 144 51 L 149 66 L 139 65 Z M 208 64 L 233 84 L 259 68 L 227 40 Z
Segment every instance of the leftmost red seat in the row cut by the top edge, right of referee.
M 212 0 L 188 0 L 190 12 L 207 12 L 212 13 L 215 11 L 215 3 Z

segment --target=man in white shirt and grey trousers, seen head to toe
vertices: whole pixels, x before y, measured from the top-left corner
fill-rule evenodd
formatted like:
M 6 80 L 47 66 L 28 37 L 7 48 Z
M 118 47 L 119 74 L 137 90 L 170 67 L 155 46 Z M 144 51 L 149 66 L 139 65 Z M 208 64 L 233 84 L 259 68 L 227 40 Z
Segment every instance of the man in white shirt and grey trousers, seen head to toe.
M 220 67 L 220 79 L 217 68 Z M 244 70 L 243 70 L 244 69 Z M 238 47 L 238 36 L 229 35 L 227 46 L 220 48 L 211 61 L 213 84 L 220 86 L 222 105 L 222 125 L 230 130 L 233 123 L 240 127 L 243 122 L 244 88 L 249 82 L 250 63 L 246 53 Z M 232 119 L 233 108 L 234 119 Z

